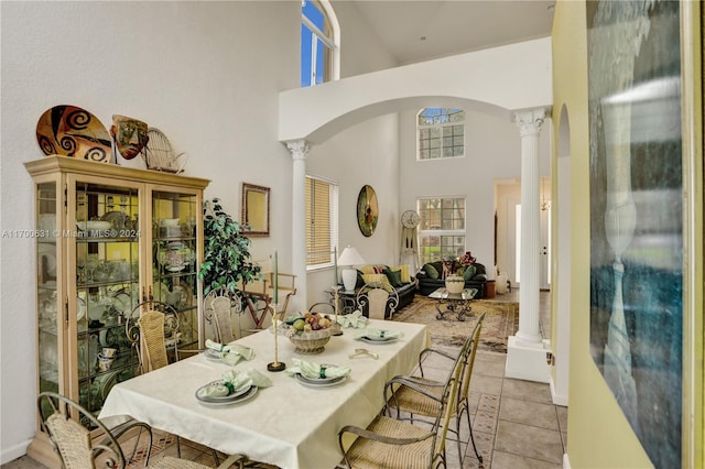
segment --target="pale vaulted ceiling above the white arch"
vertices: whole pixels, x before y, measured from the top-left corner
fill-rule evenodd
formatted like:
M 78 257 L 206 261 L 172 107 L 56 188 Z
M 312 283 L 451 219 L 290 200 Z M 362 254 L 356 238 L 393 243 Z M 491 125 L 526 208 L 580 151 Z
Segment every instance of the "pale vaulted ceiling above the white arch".
M 355 0 L 354 3 L 399 65 L 405 65 L 550 36 L 555 0 Z

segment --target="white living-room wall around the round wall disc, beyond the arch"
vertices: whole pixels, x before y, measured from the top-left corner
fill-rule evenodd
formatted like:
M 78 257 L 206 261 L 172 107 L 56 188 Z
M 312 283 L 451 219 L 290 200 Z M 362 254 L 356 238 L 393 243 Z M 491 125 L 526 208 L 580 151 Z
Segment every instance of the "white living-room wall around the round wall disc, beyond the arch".
M 341 77 L 392 67 L 390 55 L 373 40 L 367 22 L 350 2 L 334 2 L 341 34 Z M 302 118 L 307 118 L 307 111 Z M 397 113 L 388 113 L 350 126 L 308 153 L 308 174 L 339 184 L 338 254 L 350 244 L 369 262 L 394 262 L 398 244 L 399 133 Z M 367 238 L 357 225 L 357 196 L 364 185 L 375 188 L 379 199 L 379 222 Z M 394 264 L 395 265 L 395 264 Z M 308 305 L 328 299 L 333 271 L 307 275 Z M 308 306 L 307 305 L 307 306 Z

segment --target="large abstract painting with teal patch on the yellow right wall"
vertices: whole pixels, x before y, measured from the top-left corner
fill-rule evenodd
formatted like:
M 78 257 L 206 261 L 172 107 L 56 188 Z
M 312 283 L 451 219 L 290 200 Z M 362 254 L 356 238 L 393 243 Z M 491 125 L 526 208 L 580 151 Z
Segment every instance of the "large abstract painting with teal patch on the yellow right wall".
M 588 1 L 590 355 L 655 467 L 681 467 L 681 4 Z

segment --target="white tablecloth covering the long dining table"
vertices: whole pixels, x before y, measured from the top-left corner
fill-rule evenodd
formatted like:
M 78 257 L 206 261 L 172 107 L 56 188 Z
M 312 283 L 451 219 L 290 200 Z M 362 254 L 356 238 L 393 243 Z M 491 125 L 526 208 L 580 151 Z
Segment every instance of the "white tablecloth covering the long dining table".
M 268 372 L 274 361 L 274 336 L 269 330 L 245 337 L 256 357 L 235 368 L 253 368 L 273 381 L 271 388 L 242 403 L 209 407 L 195 392 L 228 371 L 228 364 L 198 355 L 169 367 L 117 384 L 110 391 L 100 418 L 132 417 L 169 433 L 282 468 L 333 468 L 341 459 L 337 433 L 344 425 L 367 426 L 383 405 L 384 383 L 397 374 L 408 374 L 419 352 L 429 345 L 425 326 L 370 320 L 368 327 L 401 330 L 404 337 L 391 343 L 370 345 L 354 340 L 361 329 L 343 329 L 323 353 L 294 353 L 288 338 L 279 336 L 279 361 L 292 366 L 292 358 L 351 368 L 350 375 L 336 386 L 312 389 L 301 385 L 286 372 Z M 356 348 L 379 353 L 349 358 Z

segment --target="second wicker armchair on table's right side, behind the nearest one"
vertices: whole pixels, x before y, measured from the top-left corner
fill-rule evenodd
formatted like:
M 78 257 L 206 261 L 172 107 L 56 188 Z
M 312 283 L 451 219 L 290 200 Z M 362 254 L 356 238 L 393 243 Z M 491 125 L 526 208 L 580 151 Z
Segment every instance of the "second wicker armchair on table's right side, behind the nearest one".
M 458 393 L 456 394 L 456 400 L 451 406 L 451 414 L 455 419 L 455 429 L 451 429 L 451 432 L 455 434 L 460 467 L 463 467 L 464 460 L 460 441 L 460 422 L 463 421 L 463 414 L 465 414 L 467 419 L 475 456 L 477 457 L 480 466 L 482 465 L 482 456 L 477 450 L 475 436 L 473 435 L 468 394 L 470 389 L 470 378 L 473 375 L 473 367 L 475 364 L 475 356 L 477 353 L 477 345 L 479 342 L 484 320 L 485 313 L 477 318 L 473 332 L 466 338 L 463 347 L 460 348 L 460 352 L 457 356 L 453 356 L 445 350 L 434 348 L 424 349 L 419 355 L 420 377 L 394 377 L 384 385 L 384 401 L 387 402 L 386 412 L 388 415 L 392 416 L 395 411 L 395 418 L 398 419 L 408 419 L 413 422 L 421 417 L 429 422 L 438 412 L 442 391 L 445 383 L 443 381 L 425 378 L 423 374 L 423 361 L 430 355 L 435 355 L 447 360 L 454 360 L 453 367 L 460 368 L 460 383 Z M 420 390 L 423 392 L 420 392 Z M 409 414 L 408 417 L 405 416 L 406 414 Z

